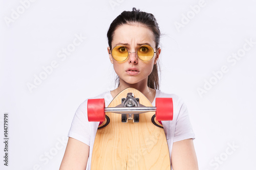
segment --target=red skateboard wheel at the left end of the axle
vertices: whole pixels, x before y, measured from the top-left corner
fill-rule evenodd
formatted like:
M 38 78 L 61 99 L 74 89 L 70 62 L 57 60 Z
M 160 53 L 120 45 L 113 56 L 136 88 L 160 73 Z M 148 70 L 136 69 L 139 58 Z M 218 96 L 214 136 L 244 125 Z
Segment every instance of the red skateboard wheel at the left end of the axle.
M 105 121 L 105 100 L 104 99 L 88 99 L 87 114 L 89 122 Z

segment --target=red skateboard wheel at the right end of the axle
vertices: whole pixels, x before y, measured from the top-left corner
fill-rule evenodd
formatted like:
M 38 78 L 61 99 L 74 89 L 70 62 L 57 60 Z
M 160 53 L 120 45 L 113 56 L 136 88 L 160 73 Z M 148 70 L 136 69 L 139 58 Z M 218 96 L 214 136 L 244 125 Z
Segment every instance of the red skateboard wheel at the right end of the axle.
M 173 120 L 173 99 L 156 98 L 156 120 Z

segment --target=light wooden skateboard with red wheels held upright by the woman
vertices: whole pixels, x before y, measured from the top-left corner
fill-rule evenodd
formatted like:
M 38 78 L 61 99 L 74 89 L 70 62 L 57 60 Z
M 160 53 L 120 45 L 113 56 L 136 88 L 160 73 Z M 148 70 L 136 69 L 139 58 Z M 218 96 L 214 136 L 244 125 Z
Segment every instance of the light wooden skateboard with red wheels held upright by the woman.
M 171 169 L 160 120 L 173 119 L 172 98 L 156 107 L 140 91 L 126 88 L 105 108 L 104 99 L 88 100 L 88 120 L 100 122 L 91 169 Z

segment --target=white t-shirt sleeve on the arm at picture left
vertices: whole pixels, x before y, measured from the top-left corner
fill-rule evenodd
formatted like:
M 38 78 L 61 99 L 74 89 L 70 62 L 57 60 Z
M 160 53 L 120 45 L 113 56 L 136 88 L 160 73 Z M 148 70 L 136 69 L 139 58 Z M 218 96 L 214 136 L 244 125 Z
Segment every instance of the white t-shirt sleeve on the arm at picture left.
M 68 137 L 77 139 L 90 146 L 90 125 L 87 117 L 87 100 L 76 110 Z

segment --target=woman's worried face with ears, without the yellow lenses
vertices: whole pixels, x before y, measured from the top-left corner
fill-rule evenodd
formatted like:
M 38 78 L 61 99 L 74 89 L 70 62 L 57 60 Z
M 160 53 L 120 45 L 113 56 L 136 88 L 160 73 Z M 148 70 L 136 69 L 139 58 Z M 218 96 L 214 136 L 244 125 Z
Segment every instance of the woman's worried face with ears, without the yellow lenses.
M 156 52 L 154 38 L 153 32 L 139 23 L 125 24 L 115 30 L 112 48 L 116 45 L 123 45 L 129 52 L 137 52 L 139 46 L 148 44 Z M 111 53 L 110 47 L 108 47 L 108 52 Z M 120 83 L 124 81 L 128 84 L 135 84 L 142 81 L 147 82 L 147 77 L 151 74 L 160 52 L 161 49 L 158 48 L 157 53 L 149 61 L 140 60 L 137 57 L 137 53 L 129 53 L 129 57 L 123 62 L 114 60 L 111 54 L 109 57 L 111 63 L 114 65 L 116 74 L 119 76 Z

